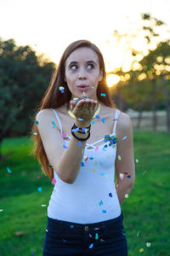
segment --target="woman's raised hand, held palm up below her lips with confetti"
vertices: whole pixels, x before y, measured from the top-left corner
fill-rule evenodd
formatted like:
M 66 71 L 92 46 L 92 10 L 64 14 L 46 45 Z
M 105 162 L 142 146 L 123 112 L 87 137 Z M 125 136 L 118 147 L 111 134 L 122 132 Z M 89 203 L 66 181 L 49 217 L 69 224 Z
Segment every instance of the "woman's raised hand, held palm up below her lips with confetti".
M 79 102 L 71 101 L 71 112 L 75 115 L 79 127 L 90 124 L 96 112 L 97 104 L 98 102 L 92 99 L 82 99 Z

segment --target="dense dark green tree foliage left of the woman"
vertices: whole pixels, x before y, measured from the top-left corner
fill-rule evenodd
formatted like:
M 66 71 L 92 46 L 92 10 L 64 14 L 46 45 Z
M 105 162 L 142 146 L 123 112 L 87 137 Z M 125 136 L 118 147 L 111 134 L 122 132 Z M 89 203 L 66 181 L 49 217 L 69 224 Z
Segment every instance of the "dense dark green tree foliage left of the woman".
M 47 90 L 54 63 L 37 57 L 30 46 L 0 38 L 0 141 L 26 135 L 31 117 Z

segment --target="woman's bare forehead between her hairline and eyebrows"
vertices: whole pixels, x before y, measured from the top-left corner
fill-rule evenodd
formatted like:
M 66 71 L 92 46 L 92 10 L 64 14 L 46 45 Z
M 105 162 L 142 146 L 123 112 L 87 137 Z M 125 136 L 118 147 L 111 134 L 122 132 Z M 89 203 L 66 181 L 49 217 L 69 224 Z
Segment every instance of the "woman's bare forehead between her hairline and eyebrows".
M 77 62 L 95 61 L 96 63 L 99 63 L 99 57 L 93 49 L 90 49 L 88 47 L 81 47 L 71 52 L 71 55 L 68 56 L 65 63 L 69 64 L 71 61 L 77 61 Z

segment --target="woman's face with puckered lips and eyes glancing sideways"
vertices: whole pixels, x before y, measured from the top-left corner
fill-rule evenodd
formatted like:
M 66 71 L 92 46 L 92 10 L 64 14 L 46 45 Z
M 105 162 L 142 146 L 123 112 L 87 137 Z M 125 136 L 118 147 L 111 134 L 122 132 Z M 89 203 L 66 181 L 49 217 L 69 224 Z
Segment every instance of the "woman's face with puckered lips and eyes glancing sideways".
M 71 91 L 71 100 L 81 98 L 84 93 L 88 98 L 97 100 L 96 90 L 102 77 L 99 58 L 93 49 L 75 49 L 65 61 L 65 81 Z

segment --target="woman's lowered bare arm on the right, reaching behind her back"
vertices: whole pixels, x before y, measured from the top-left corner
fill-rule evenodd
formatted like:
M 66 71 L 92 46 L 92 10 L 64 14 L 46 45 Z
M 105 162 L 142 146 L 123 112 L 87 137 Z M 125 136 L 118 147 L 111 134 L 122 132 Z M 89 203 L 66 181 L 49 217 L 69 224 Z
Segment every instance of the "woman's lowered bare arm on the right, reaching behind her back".
M 132 122 L 126 113 L 120 113 L 116 126 L 116 192 L 120 204 L 128 197 L 135 181 Z M 125 138 L 126 137 L 126 138 Z

